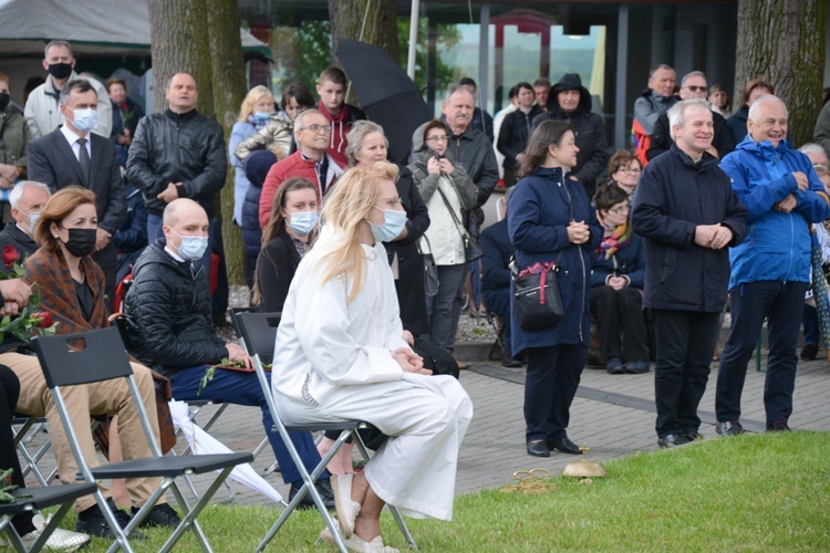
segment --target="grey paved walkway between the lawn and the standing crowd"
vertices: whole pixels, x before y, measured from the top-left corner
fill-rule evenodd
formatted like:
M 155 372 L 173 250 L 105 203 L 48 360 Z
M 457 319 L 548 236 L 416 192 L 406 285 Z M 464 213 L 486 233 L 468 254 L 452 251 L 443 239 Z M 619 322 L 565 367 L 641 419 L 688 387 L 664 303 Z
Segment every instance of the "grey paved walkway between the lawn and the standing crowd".
M 766 362 L 766 357 L 764 357 Z M 750 362 L 744 390 L 744 427 L 762 431 L 765 427 L 762 393 L 764 375 Z M 701 405 L 704 421 L 702 434 L 715 434 L 715 378 L 717 365 Z M 542 467 L 557 473 L 573 456 L 553 453 L 548 459 L 529 457 L 525 451 L 522 369 L 507 369 L 497 364 L 471 364 L 461 372 L 460 382 L 475 405 L 475 416 L 460 451 L 457 493 L 470 493 L 512 481 L 521 469 Z M 796 380 L 795 413 L 790 426 L 796 429 L 830 430 L 830 364 L 827 361 L 799 362 Z M 571 408 L 569 436 L 579 445 L 591 448 L 589 458 L 606 461 L 646 452 L 657 447 L 654 434 L 654 373 L 645 375 L 609 375 L 604 371 L 585 369 Z M 206 420 L 206 418 L 205 418 Z M 230 406 L 211 434 L 235 450 L 252 450 L 262 438 L 260 414 L 252 407 Z M 52 458 L 49 457 L 49 462 Z M 273 461 L 267 448 L 255 461 L 263 470 Z M 281 478 L 268 480 L 287 497 L 288 487 Z M 234 484 L 236 502 L 268 503 L 269 500 L 241 484 Z M 224 491 L 218 493 L 221 497 Z

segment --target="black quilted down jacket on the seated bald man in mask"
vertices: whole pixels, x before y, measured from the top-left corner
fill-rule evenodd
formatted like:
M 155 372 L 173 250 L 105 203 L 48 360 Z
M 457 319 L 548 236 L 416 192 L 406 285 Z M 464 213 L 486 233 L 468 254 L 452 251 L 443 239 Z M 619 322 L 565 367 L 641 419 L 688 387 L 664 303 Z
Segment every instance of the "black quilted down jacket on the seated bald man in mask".
M 124 300 L 131 353 L 163 375 L 214 365 L 228 356 L 211 321 L 207 279 L 189 261 L 148 246 L 133 268 L 133 285 Z

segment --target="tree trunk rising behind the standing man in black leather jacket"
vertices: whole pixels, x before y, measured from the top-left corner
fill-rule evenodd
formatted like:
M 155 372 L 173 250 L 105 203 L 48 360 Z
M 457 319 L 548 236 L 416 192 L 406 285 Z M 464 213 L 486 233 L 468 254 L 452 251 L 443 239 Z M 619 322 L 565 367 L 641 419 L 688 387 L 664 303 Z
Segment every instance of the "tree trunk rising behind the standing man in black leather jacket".
M 165 85 L 179 71 L 199 86 L 200 113 L 214 116 L 212 70 L 205 0 L 149 0 L 153 100 L 157 112 L 167 107 Z

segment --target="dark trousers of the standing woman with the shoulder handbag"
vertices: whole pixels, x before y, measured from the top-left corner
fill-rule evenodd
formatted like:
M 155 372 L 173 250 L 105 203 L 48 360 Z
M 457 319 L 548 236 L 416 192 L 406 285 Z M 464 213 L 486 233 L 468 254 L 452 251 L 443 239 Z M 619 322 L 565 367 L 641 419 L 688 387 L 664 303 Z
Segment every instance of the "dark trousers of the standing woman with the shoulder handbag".
M 568 436 L 571 404 L 577 395 L 588 347 L 560 344 L 530 347 L 525 377 L 527 441 L 558 440 Z

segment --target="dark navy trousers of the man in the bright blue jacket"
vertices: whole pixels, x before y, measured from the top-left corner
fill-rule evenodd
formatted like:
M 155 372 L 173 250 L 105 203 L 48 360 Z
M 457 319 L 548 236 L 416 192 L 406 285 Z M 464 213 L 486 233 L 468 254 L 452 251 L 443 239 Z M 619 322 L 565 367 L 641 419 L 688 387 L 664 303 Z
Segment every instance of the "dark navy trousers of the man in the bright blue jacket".
M 732 332 L 720 355 L 715 413 L 722 422 L 740 419 L 740 395 L 764 320 L 769 332 L 769 357 L 764 384 L 767 428 L 792 415 L 798 334 L 805 306 L 806 282 L 759 281 L 736 286 L 732 300 Z

